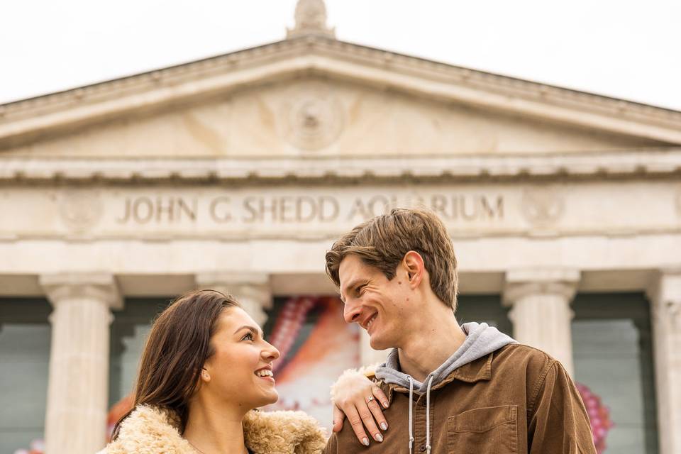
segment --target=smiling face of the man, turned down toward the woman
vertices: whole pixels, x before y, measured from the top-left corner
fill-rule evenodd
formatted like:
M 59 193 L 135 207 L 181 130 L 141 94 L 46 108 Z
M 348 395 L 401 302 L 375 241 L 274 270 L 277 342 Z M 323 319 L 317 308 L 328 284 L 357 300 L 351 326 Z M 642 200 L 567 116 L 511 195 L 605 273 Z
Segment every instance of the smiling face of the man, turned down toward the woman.
M 416 303 L 402 265 L 398 265 L 397 275 L 388 280 L 381 270 L 366 265 L 357 255 L 348 255 L 341 262 L 338 277 L 345 321 L 367 330 L 376 350 L 401 346 L 408 331 L 408 317 L 414 316 L 411 307 Z

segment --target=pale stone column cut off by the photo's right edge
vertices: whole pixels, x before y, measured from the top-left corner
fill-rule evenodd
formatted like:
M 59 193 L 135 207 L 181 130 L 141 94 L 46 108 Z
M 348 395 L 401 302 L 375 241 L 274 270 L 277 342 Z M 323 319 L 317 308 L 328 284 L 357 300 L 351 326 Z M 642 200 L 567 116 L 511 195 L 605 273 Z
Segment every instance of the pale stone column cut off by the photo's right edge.
M 681 454 L 681 268 L 648 289 L 653 322 L 660 454 Z

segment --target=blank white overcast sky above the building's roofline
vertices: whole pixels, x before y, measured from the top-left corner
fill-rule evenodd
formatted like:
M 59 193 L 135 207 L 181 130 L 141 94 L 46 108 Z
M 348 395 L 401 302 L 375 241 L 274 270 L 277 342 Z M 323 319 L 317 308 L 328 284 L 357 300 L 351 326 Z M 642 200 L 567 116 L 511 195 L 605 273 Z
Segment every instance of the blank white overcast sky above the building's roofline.
M 296 0 L 4 0 L 0 104 L 281 40 Z M 340 40 L 681 111 L 681 0 L 327 0 Z

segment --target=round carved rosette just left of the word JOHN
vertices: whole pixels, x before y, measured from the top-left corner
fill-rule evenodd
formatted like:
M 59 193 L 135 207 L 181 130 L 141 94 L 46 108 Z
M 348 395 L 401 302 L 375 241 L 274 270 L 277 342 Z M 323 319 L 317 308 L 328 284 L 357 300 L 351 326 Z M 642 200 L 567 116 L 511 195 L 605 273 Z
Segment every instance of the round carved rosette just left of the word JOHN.
M 59 213 L 71 231 L 84 232 L 99 223 L 104 207 L 94 189 L 67 189 L 60 194 Z

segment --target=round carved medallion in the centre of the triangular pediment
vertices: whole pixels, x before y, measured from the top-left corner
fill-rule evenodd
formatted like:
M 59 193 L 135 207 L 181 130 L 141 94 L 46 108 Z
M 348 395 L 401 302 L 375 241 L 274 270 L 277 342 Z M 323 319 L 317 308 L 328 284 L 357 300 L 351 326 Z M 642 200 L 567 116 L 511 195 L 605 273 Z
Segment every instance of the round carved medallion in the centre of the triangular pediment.
M 326 87 L 300 87 L 285 104 L 284 119 L 284 137 L 291 145 L 301 150 L 321 150 L 341 135 L 343 106 Z

